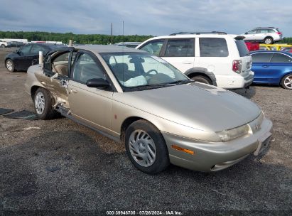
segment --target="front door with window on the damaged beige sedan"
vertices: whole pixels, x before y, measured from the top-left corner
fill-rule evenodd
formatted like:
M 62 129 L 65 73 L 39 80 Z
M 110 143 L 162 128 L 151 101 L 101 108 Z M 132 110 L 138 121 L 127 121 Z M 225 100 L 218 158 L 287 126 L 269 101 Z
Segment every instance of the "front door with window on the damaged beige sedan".
M 70 112 L 75 119 L 107 134 L 112 133 L 112 89 L 87 87 L 87 80 L 109 81 L 102 64 L 88 51 L 78 51 L 68 84 Z

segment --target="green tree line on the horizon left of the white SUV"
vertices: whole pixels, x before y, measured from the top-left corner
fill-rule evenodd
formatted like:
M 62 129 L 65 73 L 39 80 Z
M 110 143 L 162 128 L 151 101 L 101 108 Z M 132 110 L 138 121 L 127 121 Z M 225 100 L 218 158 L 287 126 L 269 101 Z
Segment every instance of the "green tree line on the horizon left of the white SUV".
M 72 39 L 81 44 L 109 44 L 126 41 L 142 42 L 153 36 L 109 36 L 100 34 L 53 33 L 45 31 L 0 31 L 0 38 L 28 39 L 28 41 L 62 41 Z

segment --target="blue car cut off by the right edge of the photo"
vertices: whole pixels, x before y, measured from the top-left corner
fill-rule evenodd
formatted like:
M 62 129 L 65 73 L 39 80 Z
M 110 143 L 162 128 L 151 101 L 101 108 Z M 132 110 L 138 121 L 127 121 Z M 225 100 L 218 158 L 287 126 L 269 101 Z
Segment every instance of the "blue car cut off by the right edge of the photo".
M 258 50 L 250 55 L 254 83 L 281 85 L 292 90 L 292 53 Z

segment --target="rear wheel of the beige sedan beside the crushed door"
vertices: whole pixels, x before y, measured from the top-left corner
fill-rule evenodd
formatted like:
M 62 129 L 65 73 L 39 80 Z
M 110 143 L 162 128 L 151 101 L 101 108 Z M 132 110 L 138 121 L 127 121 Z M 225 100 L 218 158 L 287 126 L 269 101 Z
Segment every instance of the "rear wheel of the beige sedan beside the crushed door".
M 40 119 L 53 119 L 56 116 L 57 112 L 53 107 L 55 99 L 48 90 L 42 87 L 38 88 L 33 97 L 33 103 L 35 104 L 36 114 Z

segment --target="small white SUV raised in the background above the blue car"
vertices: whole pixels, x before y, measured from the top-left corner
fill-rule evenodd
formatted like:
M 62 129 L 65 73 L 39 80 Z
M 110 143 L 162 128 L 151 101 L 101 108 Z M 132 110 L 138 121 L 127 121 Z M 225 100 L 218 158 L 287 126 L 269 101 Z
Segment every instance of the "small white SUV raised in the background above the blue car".
M 257 27 L 251 31 L 242 34 L 244 41 L 258 41 L 266 44 L 272 44 L 281 41 L 283 34 L 279 28 L 274 27 Z

